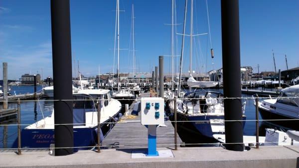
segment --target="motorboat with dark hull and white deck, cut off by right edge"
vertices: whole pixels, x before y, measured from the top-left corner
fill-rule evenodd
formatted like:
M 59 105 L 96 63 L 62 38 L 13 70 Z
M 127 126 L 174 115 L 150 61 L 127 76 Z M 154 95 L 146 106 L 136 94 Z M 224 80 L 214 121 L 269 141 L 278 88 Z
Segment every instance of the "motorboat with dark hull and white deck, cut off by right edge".
M 259 101 L 259 111 L 266 122 L 299 130 L 299 84 L 282 89 L 277 98 Z

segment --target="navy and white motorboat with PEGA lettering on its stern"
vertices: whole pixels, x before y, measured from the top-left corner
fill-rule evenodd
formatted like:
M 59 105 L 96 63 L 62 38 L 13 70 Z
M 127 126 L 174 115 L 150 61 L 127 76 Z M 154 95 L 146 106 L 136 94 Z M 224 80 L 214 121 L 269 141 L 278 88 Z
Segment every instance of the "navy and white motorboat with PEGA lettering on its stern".
M 97 101 L 94 95 L 73 93 L 73 128 L 75 149 L 89 149 L 97 142 L 98 104 L 101 111 L 100 141 L 112 129 L 121 111 L 121 103 L 111 98 L 110 90 L 102 89 L 97 92 Z M 108 124 L 107 124 L 108 123 Z M 54 142 L 54 110 L 52 114 L 36 123 L 25 127 L 21 131 L 21 148 L 49 148 Z M 17 147 L 17 139 L 12 148 Z M 81 147 L 81 148 L 80 148 Z M 74 149 L 74 150 L 75 150 Z

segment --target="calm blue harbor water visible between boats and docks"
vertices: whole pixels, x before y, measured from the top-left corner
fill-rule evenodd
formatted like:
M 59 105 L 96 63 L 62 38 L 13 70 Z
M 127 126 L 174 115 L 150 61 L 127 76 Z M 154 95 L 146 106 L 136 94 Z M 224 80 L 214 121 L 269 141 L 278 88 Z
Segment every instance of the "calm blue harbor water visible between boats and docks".
M 41 90 L 42 86 L 38 86 L 37 90 Z M 16 94 L 21 93 L 32 93 L 33 86 L 11 86 L 11 92 L 15 90 Z M 214 91 L 222 91 L 222 89 L 213 89 Z M 250 95 L 242 94 L 243 97 L 250 97 Z M 2 105 L 0 105 L 0 108 Z M 16 103 L 9 103 L 9 108 L 17 108 Z M 30 101 L 30 102 L 21 102 L 21 128 L 25 128 L 27 125 L 30 125 L 44 117 L 51 114 L 53 109 L 53 101 Z M 252 99 L 248 99 L 246 103 L 245 114 L 248 120 L 255 120 L 255 106 Z M 261 116 L 259 115 L 259 118 Z M 5 124 L 5 126 L 3 126 Z M 16 120 L 11 120 L 6 123 L 1 123 L 0 126 L 0 149 L 10 148 L 14 140 L 17 138 L 17 126 L 15 126 Z M 260 122 L 260 136 L 265 134 L 265 128 L 269 126 L 262 125 Z M 246 121 L 244 128 L 244 135 L 255 135 L 255 121 Z

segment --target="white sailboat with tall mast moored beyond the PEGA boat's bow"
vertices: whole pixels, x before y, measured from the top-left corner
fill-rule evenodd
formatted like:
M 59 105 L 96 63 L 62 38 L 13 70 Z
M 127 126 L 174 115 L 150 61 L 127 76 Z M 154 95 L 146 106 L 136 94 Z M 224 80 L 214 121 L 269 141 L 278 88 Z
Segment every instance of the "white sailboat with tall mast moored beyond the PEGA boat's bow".
M 131 93 L 128 89 L 120 88 L 120 9 L 119 9 L 119 0 L 116 0 L 116 26 L 115 31 L 117 32 L 117 57 L 118 57 L 118 64 L 117 64 L 117 91 L 112 93 L 112 97 L 118 99 L 122 105 L 129 104 L 131 105 L 135 100 L 135 95 Z

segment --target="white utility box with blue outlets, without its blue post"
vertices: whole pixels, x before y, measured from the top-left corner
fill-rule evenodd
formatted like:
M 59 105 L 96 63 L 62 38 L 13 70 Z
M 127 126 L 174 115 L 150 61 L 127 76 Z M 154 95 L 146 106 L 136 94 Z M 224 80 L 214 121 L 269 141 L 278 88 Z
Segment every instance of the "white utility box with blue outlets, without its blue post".
M 161 97 L 141 98 L 141 124 L 164 124 L 164 99 Z

